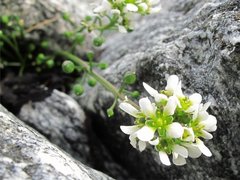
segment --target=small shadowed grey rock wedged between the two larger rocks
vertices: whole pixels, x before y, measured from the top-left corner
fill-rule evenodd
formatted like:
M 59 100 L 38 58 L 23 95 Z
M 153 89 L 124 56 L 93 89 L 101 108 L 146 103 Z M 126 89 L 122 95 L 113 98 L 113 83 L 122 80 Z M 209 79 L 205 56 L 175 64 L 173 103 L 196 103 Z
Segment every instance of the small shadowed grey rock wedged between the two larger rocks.
M 54 90 L 44 101 L 29 102 L 19 118 L 44 135 L 50 142 L 88 166 L 113 177 L 128 177 L 91 127 L 78 103 L 69 95 Z

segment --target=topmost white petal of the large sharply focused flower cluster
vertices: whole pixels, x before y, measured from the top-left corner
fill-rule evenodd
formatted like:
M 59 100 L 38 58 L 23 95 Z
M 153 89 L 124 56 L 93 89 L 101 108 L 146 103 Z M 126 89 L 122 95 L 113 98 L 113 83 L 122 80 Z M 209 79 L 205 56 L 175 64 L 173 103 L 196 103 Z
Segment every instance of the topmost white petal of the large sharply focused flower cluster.
M 181 81 L 179 81 L 177 75 L 171 75 L 168 77 L 167 86 L 165 90 L 171 93 L 171 95 L 177 96 L 178 98 L 184 97 L 181 88 Z

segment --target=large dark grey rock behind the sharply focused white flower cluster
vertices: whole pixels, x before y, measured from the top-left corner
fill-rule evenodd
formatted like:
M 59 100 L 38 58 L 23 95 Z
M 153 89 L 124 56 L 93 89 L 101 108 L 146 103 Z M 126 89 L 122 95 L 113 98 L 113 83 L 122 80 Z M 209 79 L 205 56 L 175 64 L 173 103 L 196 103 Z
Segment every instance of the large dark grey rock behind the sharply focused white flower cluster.
M 166 167 L 154 150 L 139 153 L 130 146 L 119 130 L 119 125 L 133 122 L 128 115 L 116 110 L 115 117 L 107 118 L 112 98 L 103 88 L 79 102 L 92 113 L 95 132 L 110 153 L 136 179 L 240 179 L 240 1 L 174 2 L 169 11 L 139 22 L 136 31 L 108 41 L 101 59 L 111 66 L 103 76 L 119 86 L 125 72 L 135 71 L 133 89 L 143 91 L 143 81 L 160 90 L 167 75 L 177 74 L 185 93 L 198 92 L 212 102 L 218 130 L 206 144 L 213 156 Z

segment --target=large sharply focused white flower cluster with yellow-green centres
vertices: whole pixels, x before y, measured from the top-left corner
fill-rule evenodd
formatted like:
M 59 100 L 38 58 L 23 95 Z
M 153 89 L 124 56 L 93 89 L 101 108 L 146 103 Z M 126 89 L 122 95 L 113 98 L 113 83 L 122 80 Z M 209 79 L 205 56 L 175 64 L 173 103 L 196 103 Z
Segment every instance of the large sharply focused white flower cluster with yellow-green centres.
M 130 144 L 143 151 L 147 144 L 155 146 L 163 164 L 186 164 L 186 158 L 198 158 L 202 153 L 210 157 L 211 151 L 201 138 L 211 139 L 210 132 L 217 129 L 217 120 L 206 111 L 210 103 L 202 104 L 202 96 L 194 93 L 186 96 L 181 90 L 178 76 L 171 75 L 165 90 L 158 92 L 143 83 L 146 91 L 155 100 L 148 97 L 139 100 L 139 109 L 126 102 L 120 108 L 135 118 L 134 126 L 121 126 L 121 130 L 130 135 Z

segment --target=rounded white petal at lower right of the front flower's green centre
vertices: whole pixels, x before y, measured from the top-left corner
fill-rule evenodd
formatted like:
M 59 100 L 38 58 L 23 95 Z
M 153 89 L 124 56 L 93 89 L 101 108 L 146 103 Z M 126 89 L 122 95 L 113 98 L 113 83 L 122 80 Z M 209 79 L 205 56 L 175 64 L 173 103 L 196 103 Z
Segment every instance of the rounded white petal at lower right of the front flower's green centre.
M 167 136 L 172 138 L 181 138 L 184 129 L 182 125 L 178 122 L 174 122 L 167 127 Z

